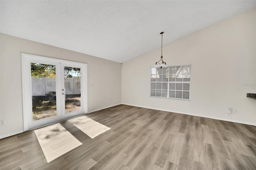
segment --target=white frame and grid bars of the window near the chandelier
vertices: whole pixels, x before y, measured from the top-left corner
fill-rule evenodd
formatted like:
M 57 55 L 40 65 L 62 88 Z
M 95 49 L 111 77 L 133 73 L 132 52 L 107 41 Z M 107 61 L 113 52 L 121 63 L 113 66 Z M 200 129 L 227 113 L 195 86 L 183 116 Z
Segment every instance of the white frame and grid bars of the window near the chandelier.
M 190 66 L 190 81 L 183 81 L 183 78 L 182 77 L 182 81 L 170 81 L 170 67 L 180 67 L 180 66 Z M 151 96 L 151 83 L 167 83 L 167 86 L 168 86 L 168 89 L 167 89 L 167 97 L 162 97 L 162 89 L 161 89 L 161 97 L 157 97 L 157 98 L 166 98 L 166 99 L 177 99 L 177 100 L 186 100 L 186 101 L 190 101 L 190 96 L 191 96 L 191 64 L 187 64 L 187 65 L 170 65 L 168 66 L 168 81 L 151 81 L 151 70 L 152 68 L 156 68 L 156 67 L 150 67 L 150 83 L 149 83 L 149 87 L 150 87 L 150 90 L 149 90 L 149 97 L 157 97 L 157 96 Z M 157 69 L 157 68 L 156 68 Z M 163 68 L 162 68 L 163 69 Z M 170 90 L 170 83 L 174 83 L 175 85 L 175 89 L 174 90 Z M 182 84 L 182 90 L 176 90 L 176 83 L 181 83 Z M 189 90 L 183 90 L 183 84 L 189 84 Z M 169 93 L 170 91 L 174 91 L 174 97 L 169 97 Z M 181 91 L 182 94 L 181 96 L 183 97 L 183 92 L 189 92 L 189 99 L 182 99 L 182 98 L 176 98 L 176 91 Z

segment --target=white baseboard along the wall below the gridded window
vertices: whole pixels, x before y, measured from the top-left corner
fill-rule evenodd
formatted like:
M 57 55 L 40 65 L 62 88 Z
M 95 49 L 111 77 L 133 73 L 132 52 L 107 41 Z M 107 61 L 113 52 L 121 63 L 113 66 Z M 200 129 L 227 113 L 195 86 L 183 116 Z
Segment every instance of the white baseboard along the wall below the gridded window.
M 153 110 L 159 110 L 159 111 L 180 113 L 180 114 L 184 114 L 184 115 L 205 117 L 205 118 L 216 119 L 216 120 L 220 120 L 220 121 L 228 121 L 228 122 L 242 123 L 242 124 L 246 124 L 246 125 L 253 125 L 253 126 L 256 126 L 256 123 L 243 122 L 243 121 L 236 121 L 236 120 L 232 120 L 232 119 L 223 119 L 223 118 L 218 118 L 218 117 L 211 117 L 211 116 L 204 116 L 204 115 L 196 115 L 196 114 L 192 114 L 192 113 L 184 113 L 184 112 L 178 112 L 178 111 L 171 111 L 171 110 L 167 110 L 167 109 L 158 109 L 158 108 L 154 108 L 154 107 L 146 107 L 146 106 L 140 106 L 140 105 L 132 105 L 132 104 L 128 104 L 128 103 L 121 103 L 121 104 L 122 104 L 122 105 L 135 106 L 135 107 L 142 107 L 142 108 L 146 108 L 146 109 L 153 109 Z

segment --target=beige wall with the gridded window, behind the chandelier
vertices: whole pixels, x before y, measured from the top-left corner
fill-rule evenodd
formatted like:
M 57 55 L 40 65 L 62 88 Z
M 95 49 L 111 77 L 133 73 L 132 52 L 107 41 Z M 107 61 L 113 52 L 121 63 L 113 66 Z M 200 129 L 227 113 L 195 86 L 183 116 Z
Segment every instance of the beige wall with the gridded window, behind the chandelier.
M 149 68 L 160 55 L 123 63 L 122 103 L 256 125 L 256 100 L 246 97 L 256 93 L 256 8 L 163 47 L 167 65 L 192 65 L 190 101 L 149 97 Z

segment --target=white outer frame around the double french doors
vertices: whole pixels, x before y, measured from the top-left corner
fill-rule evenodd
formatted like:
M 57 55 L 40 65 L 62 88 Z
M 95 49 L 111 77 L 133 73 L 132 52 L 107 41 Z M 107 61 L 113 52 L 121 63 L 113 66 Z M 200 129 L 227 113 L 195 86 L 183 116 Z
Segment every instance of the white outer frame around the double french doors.
M 28 65 L 27 62 L 30 59 L 42 59 L 44 61 L 51 61 L 51 62 L 58 62 L 58 63 L 67 63 L 67 64 L 75 64 L 75 65 L 80 65 L 82 67 L 84 67 L 84 79 L 82 79 L 81 77 L 81 81 L 84 82 L 84 108 L 81 107 L 81 109 L 83 109 L 83 114 L 88 113 L 88 85 L 87 85 L 87 63 L 80 63 L 80 62 L 76 62 L 76 61 L 68 61 L 68 60 L 64 60 L 64 59 L 56 59 L 56 58 L 51 58 L 51 57 L 44 57 L 44 56 L 40 56 L 40 55 L 33 55 L 33 54 L 28 54 L 28 53 L 21 53 L 21 63 L 22 63 L 22 105 L 23 105 L 23 128 L 24 131 L 27 130 L 31 130 L 29 129 L 28 126 L 28 120 L 29 120 L 29 116 L 30 113 L 28 113 L 28 108 L 31 107 L 31 96 L 28 96 L 28 90 L 31 90 L 31 84 L 28 84 L 28 79 L 31 79 L 31 75 L 28 76 L 28 73 L 26 72 Z M 56 87 L 57 88 L 57 87 Z M 81 91 L 82 92 L 82 91 Z M 82 94 L 81 94 L 82 96 Z M 82 105 L 82 103 L 81 103 Z M 83 115 L 81 114 L 81 115 Z M 75 116 L 74 116 L 75 117 Z M 65 117 L 64 117 L 65 118 Z M 67 117 L 66 119 L 69 119 L 70 117 Z M 47 119 L 47 118 L 46 118 Z M 59 121 L 63 121 L 65 119 L 61 119 Z M 59 122 L 56 121 L 56 122 Z M 51 122 L 47 125 L 56 123 L 56 122 Z M 46 125 L 42 125 L 42 126 L 46 126 Z M 42 127 L 41 126 L 41 127 Z M 38 128 L 38 127 L 35 127 Z

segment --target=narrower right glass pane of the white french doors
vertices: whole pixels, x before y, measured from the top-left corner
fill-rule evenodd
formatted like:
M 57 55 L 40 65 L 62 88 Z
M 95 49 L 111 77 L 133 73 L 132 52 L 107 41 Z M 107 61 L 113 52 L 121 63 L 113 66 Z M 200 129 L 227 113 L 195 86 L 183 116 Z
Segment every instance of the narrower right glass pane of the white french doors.
M 81 110 L 81 69 L 64 66 L 65 114 Z

